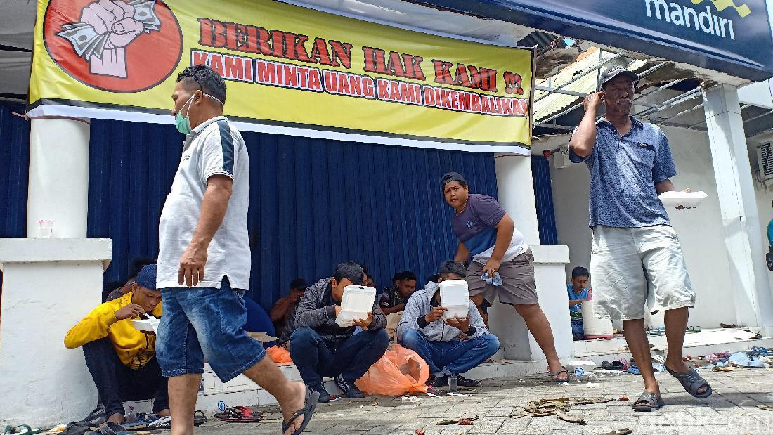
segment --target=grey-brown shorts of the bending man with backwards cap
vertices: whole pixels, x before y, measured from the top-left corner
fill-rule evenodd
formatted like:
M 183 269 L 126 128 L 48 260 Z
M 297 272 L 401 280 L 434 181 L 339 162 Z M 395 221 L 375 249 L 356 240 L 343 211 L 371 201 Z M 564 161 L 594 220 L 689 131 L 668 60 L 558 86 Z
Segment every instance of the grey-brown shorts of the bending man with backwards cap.
M 467 269 L 468 291 L 470 296 L 482 294 L 489 304 L 499 295 L 499 302 L 509 305 L 537 304 L 536 284 L 534 283 L 534 257 L 531 250 L 499 265 L 502 285 L 497 287 L 486 284 L 481 275 L 483 266 L 473 261 Z

